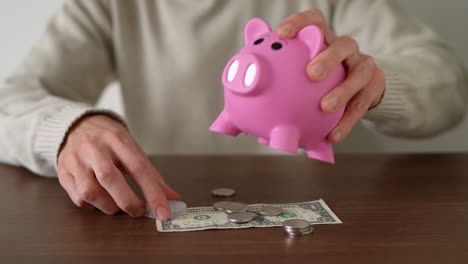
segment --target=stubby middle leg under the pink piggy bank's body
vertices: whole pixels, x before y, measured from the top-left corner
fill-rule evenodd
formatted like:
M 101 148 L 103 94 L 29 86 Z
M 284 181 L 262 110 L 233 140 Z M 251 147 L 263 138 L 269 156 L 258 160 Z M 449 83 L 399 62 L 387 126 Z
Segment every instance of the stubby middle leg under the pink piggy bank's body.
M 290 126 L 278 126 L 270 133 L 270 148 L 289 153 L 297 153 L 299 147 L 299 129 Z

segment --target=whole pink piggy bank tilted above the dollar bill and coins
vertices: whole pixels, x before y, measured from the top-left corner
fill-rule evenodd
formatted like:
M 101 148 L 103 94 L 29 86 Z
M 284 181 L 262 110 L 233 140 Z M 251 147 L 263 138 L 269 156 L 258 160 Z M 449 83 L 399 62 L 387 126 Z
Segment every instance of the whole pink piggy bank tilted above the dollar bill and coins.
M 321 82 L 309 79 L 308 63 L 325 47 L 316 26 L 302 29 L 293 39 L 281 39 L 268 24 L 250 20 L 245 27 L 245 47 L 226 65 L 224 110 L 210 130 L 231 136 L 255 135 L 270 148 L 334 163 L 328 134 L 340 121 L 344 107 L 324 113 L 321 99 L 345 76 L 342 65 Z

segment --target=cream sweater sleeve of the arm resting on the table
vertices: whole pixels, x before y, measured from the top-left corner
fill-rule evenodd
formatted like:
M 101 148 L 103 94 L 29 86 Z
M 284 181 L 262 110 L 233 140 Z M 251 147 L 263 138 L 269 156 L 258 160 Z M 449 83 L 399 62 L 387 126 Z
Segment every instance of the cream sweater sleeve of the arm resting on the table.
M 56 175 L 68 128 L 114 79 L 105 1 L 66 1 L 18 69 L 0 82 L 0 161 Z

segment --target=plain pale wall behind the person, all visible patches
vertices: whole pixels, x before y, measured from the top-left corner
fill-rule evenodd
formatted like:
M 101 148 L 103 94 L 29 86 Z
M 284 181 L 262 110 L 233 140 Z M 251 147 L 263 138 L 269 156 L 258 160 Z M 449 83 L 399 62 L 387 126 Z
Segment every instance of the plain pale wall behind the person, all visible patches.
M 457 52 L 468 69 L 468 1 L 399 0 L 411 12 L 431 25 Z M 0 78 L 11 72 L 39 38 L 47 18 L 62 0 L 0 1 Z M 117 90 L 110 89 L 102 104 L 121 111 Z M 351 138 L 337 147 L 354 151 L 467 152 L 468 118 L 459 127 L 436 138 L 398 140 L 357 127 Z

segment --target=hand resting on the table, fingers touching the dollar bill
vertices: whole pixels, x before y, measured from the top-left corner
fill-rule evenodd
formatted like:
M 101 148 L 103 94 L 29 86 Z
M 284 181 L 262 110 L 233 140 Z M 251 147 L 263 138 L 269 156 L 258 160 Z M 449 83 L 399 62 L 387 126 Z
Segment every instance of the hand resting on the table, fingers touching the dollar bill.
M 118 121 L 104 116 L 85 117 L 69 132 L 58 156 L 58 178 L 79 207 L 94 206 L 106 214 L 120 210 L 143 216 L 143 202 L 126 182 L 128 173 L 160 220 L 167 220 L 169 200 L 179 200 L 159 172 Z

